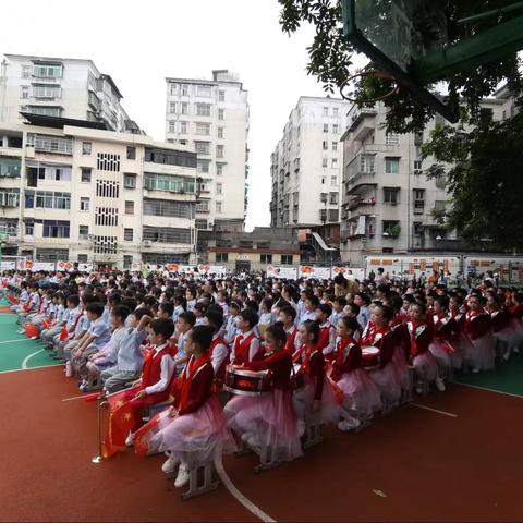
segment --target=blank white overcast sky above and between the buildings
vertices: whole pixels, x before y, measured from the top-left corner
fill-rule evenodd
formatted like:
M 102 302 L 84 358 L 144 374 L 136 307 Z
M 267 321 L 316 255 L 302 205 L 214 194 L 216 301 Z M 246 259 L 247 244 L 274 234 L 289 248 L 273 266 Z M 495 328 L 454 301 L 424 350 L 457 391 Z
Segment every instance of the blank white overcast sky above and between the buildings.
M 163 139 L 166 76 L 240 75 L 251 112 L 246 229 L 269 226 L 270 154 L 300 96 L 325 96 L 306 74 L 314 31 L 291 37 L 276 0 L 24 0 L 2 2 L 0 54 L 84 58 L 110 74 L 123 107 Z

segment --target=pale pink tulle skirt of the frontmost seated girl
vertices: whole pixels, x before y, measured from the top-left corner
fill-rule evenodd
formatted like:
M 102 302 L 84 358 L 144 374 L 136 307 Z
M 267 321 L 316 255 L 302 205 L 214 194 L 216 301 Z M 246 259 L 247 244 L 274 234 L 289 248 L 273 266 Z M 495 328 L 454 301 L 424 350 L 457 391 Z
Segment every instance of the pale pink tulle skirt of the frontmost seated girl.
M 198 466 L 222 453 L 235 450 L 234 438 L 216 397 L 209 398 L 196 412 L 169 417 L 160 414 L 158 431 L 150 438 L 149 449 L 169 452 L 186 463 Z

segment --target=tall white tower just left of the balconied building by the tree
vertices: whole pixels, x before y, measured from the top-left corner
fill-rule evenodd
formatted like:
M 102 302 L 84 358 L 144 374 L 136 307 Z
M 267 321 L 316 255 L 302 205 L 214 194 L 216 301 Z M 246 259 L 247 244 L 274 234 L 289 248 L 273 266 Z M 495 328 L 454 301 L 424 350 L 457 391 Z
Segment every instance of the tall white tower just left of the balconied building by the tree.
M 271 155 L 272 227 L 340 221 L 343 150 L 340 137 L 350 104 L 302 96 Z

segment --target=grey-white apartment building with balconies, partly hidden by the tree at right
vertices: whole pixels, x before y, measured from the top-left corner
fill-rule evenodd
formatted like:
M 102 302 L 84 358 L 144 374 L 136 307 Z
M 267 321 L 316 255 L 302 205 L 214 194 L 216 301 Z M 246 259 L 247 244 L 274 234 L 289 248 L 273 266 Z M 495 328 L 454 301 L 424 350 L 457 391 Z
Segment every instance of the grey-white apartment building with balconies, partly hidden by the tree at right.
M 484 108 L 502 117 L 506 100 Z M 504 109 L 507 112 L 507 108 Z M 443 227 L 450 205 L 445 178 L 427 180 L 434 158 L 422 160 L 421 146 L 445 120 L 436 115 L 423 133 L 386 132 L 386 108 L 353 106 L 343 136 L 343 188 L 340 252 L 343 262 L 362 266 L 373 254 L 457 252 L 463 244 Z

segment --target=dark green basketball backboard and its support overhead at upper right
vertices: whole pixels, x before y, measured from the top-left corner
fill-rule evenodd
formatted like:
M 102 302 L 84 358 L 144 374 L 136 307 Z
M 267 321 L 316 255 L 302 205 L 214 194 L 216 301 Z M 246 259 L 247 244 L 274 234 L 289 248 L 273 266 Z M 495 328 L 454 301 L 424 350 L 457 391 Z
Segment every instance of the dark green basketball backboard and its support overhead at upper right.
M 390 73 L 414 96 L 447 120 L 458 121 L 459 108 L 443 102 L 429 86 L 452 74 L 499 60 L 523 47 L 523 2 L 453 21 L 474 25 L 501 22 L 449 45 L 446 5 L 437 0 L 343 0 L 343 32 L 355 49 Z M 448 8 L 447 8 L 448 9 Z

